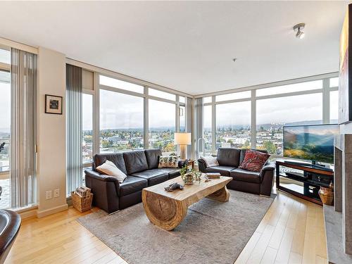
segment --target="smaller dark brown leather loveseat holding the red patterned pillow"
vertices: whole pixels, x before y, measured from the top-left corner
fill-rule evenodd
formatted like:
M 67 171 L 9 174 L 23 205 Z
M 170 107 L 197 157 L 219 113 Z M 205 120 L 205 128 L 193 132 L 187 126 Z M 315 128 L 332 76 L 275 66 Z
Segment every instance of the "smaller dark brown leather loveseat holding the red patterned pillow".
M 263 153 L 268 151 L 256 150 Z M 270 196 L 273 184 L 275 163 L 267 162 L 260 172 L 242 170 L 239 165 L 244 160 L 246 149 L 220 148 L 218 149 L 218 166 L 206 167 L 206 161 L 198 160 L 201 172 L 219 172 L 222 176 L 232 177 L 227 187 L 237 191 Z

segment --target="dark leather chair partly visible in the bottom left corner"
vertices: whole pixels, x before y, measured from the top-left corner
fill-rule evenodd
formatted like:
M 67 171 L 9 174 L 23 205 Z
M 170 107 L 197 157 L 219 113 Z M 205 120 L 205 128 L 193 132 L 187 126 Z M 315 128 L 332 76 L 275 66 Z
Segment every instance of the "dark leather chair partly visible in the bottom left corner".
M 11 250 L 18 231 L 21 218 L 12 210 L 0 210 L 0 263 L 4 263 Z

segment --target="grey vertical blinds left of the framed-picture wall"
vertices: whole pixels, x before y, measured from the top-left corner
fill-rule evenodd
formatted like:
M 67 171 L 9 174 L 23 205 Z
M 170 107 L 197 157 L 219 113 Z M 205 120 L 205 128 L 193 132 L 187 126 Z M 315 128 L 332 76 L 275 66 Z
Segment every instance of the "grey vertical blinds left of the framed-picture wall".
M 37 203 L 37 56 L 11 49 L 11 208 Z

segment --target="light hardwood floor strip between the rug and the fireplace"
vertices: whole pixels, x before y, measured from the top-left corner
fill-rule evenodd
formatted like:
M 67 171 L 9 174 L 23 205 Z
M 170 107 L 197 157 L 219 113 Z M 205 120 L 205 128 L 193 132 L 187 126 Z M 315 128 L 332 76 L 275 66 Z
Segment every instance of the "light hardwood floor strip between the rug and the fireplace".
M 322 206 L 279 191 L 235 264 L 327 263 Z

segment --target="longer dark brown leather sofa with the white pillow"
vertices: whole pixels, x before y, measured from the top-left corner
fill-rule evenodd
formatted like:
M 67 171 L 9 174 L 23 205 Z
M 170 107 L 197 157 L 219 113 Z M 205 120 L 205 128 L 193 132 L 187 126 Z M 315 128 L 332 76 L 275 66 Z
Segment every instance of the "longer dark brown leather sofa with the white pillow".
M 92 170 L 85 170 L 86 186 L 94 194 L 93 204 L 113 213 L 142 201 L 142 189 L 180 176 L 180 168 L 187 161 L 180 161 L 179 168 L 158 168 L 160 149 L 96 154 Z M 100 174 L 95 168 L 112 161 L 127 178 L 119 183 L 115 177 Z

